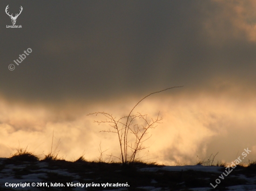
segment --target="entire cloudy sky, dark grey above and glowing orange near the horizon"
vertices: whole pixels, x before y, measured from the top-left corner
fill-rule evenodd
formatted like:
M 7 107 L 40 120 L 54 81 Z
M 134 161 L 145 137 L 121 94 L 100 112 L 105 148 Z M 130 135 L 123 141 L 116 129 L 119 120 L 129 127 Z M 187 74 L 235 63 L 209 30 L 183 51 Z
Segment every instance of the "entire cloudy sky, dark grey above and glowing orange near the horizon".
M 15 25 L 9 14 L 20 12 Z M 143 161 L 256 159 L 256 1 L 0 1 L 0 157 L 20 146 L 74 160 L 120 156 L 116 119 L 136 106 L 162 123 Z M 32 50 L 19 64 L 24 51 Z M 23 56 L 24 57 L 24 56 Z M 14 70 L 9 70 L 13 64 Z M 11 68 L 12 68 L 11 67 Z M 133 140 L 130 140 L 133 141 Z M 100 146 L 101 145 L 101 146 Z

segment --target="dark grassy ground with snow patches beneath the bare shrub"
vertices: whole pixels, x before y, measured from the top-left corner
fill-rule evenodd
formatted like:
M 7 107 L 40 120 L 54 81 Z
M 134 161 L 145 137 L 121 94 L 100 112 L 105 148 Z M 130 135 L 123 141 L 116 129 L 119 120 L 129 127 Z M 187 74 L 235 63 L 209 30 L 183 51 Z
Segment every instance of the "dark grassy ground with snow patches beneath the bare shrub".
M 0 191 L 256 191 L 256 165 L 233 168 L 146 163 L 124 167 L 84 159 L 70 162 L 18 156 L 0 158 Z M 23 183 L 29 186 L 22 187 Z M 79 184 L 71 186 L 75 183 Z

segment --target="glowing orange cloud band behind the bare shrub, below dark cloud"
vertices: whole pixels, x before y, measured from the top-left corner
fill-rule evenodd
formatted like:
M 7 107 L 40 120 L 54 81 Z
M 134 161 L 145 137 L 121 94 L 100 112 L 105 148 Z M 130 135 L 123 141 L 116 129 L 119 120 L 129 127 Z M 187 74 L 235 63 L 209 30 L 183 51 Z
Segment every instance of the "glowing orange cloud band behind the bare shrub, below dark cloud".
M 234 84 L 233 84 L 233 87 Z M 184 89 L 184 90 L 183 90 Z M 190 93 L 179 89 L 179 94 L 159 94 L 143 100 L 135 109 L 141 114 L 154 118 L 160 111 L 163 123 L 152 129 L 152 137 L 145 142 L 147 149 L 141 151 L 138 157 L 146 161 L 157 161 L 174 165 L 194 164 L 196 156 L 204 159 L 211 153 L 217 153 L 216 159 L 232 161 L 238 151 L 244 148 L 255 150 L 254 139 L 256 127 L 256 102 L 254 97 L 243 93 L 233 96 L 236 89 L 222 90 L 220 94 Z M 181 91 L 183 90 L 183 91 Z M 238 89 L 239 90 L 239 89 Z M 118 138 L 115 134 L 99 133 L 107 130 L 108 125 L 98 125 L 94 120 L 104 120 L 102 116 L 87 116 L 95 111 L 105 111 L 113 116 L 122 117 L 135 105 L 134 98 L 122 97 L 109 102 L 88 104 L 83 110 L 68 106 L 61 111 L 55 108 L 29 106 L 11 107 L 1 100 L 1 135 L 0 146 L 2 157 L 8 157 L 20 146 L 26 147 L 37 154 L 48 153 L 54 130 L 54 143 L 59 146 L 60 156 L 74 160 L 81 154 L 86 159 L 97 159 L 99 145 L 107 150 L 103 158 L 109 154 L 120 156 Z M 74 104 L 75 105 L 75 104 Z M 71 118 L 67 116 L 72 111 L 80 113 Z M 66 115 L 65 115 L 66 114 Z M 251 153 L 250 157 L 256 157 Z

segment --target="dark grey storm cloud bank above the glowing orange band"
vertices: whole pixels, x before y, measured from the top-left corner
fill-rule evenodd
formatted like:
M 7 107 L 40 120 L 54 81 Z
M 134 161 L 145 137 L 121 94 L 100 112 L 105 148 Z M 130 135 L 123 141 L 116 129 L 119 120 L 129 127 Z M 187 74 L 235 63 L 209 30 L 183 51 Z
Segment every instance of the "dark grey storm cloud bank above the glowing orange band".
M 255 46 L 208 45 L 202 3 L 2 1 L 2 10 L 9 4 L 10 13 L 18 13 L 20 5 L 23 11 L 16 21 L 22 29 L 5 28 L 11 19 L 1 12 L 0 93 L 30 101 L 103 98 L 174 85 L 200 87 L 209 76 L 236 74 Z M 27 48 L 32 53 L 9 71 Z

